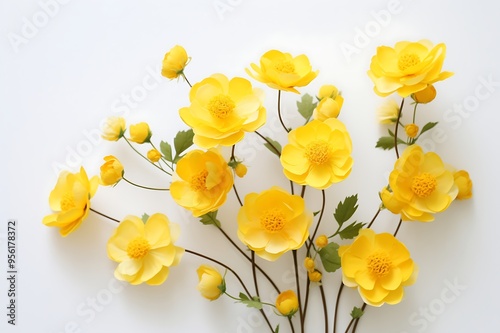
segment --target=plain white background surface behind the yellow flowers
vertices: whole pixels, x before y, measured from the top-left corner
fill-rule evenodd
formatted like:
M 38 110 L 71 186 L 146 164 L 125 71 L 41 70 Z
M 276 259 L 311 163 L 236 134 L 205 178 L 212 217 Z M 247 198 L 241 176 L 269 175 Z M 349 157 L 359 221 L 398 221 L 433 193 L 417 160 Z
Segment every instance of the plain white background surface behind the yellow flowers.
M 1 273 L 0 330 L 264 332 L 254 310 L 227 298 L 210 303 L 198 295 L 195 269 L 203 261 L 189 255 L 162 286 L 115 284 L 116 265 L 105 250 L 113 222 L 91 214 L 66 238 L 42 225 L 43 216 L 50 213 L 47 198 L 58 170 L 74 171 L 82 164 L 89 174 L 96 174 L 102 157 L 115 154 L 130 179 L 168 186 L 168 178 L 139 160 L 123 142 L 104 142 L 98 132 L 102 120 L 112 115 L 126 117 L 128 124 L 149 122 L 156 143 L 171 141 L 186 128 L 177 111 L 188 105 L 187 85 L 158 75 L 163 55 L 175 44 L 183 45 L 192 57 L 187 75 L 193 82 L 215 72 L 247 77 L 244 68 L 269 49 L 305 53 L 320 74 L 301 92 L 314 95 L 322 84 L 337 85 L 345 98 L 340 119 L 354 145 L 351 177 L 328 191 L 323 231 L 334 227 L 331 212 L 337 202 L 354 193 L 360 198 L 356 218 L 368 221 L 379 204 L 377 191 L 386 184 L 394 152 L 374 148 L 385 131 L 377 124 L 375 111 L 383 99 L 373 93 L 366 70 L 378 45 L 422 38 L 447 44 L 444 69 L 455 72 L 436 85 L 435 102 L 421 108 L 419 121 L 440 122 L 439 135 L 426 136 L 425 147 L 451 165 L 469 170 L 474 198 L 455 202 L 433 223 L 403 225 L 398 236 L 420 266 L 419 279 L 401 304 L 369 308 L 358 332 L 498 330 L 496 8 L 492 1 L 451 0 L 2 1 L 0 267 L 6 271 L 6 222 L 17 219 L 19 274 L 17 326 L 12 327 L 6 323 L 6 273 Z M 342 51 L 348 44 L 354 53 Z M 267 96 L 269 124 L 262 132 L 284 142 L 275 118 L 276 92 L 253 82 Z M 283 98 L 285 118 L 293 126 L 300 123 L 295 115 L 298 98 L 294 94 Z M 271 184 L 287 186 L 274 156 L 252 142 L 259 141 L 247 136 L 239 150 L 251 165 L 247 177 L 237 180 L 241 193 Z M 312 210 L 319 208 L 317 192 L 308 191 L 306 198 Z M 168 194 L 119 184 L 100 188 L 92 206 L 116 218 L 163 212 L 181 225 L 179 245 L 224 260 L 252 285 L 248 265 L 220 234 L 190 218 Z M 220 212 L 232 236 L 236 207 L 231 193 Z M 397 217 L 384 212 L 374 228 L 393 232 L 396 222 Z M 273 266 L 261 264 L 271 268 L 283 289 L 293 286 L 291 256 Z M 330 313 L 338 282 L 339 273 L 325 277 Z M 229 276 L 228 285 L 231 293 L 240 291 Z M 261 285 L 263 298 L 272 302 L 265 282 Z M 323 330 L 317 296 L 313 288 L 309 332 Z M 346 290 L 343 296 L 342 332 L 348 312 L 360 303 L 355 291 Z M 286 324 L 281 332 L 288 332 Z

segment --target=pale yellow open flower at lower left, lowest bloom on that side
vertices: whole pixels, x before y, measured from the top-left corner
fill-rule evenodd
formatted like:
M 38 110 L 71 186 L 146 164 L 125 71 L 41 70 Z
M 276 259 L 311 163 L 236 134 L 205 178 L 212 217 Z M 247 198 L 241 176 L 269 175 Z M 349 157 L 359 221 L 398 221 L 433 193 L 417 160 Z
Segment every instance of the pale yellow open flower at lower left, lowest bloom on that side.
M 162 284 L 184 254 L 174 245 L 178 237 L 179 227 L 164 214 L 153 214 L 145 223 L 137 216 L 125 217 L 107 244 L 109 258 L 119 263 L 115 277 L 133 285 Z

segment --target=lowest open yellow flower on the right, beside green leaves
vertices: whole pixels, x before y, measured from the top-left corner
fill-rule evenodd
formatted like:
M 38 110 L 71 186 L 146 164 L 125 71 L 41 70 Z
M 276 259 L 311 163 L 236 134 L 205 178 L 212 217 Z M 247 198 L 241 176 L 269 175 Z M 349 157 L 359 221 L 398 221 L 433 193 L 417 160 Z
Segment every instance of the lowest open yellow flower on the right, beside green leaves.
M 397 304 L 416 280 L 416 264 L 403 243 L 389 233 L 362 229 L 351 245 L 340 246 L 342 282 L 357 288 L 366 304 Z

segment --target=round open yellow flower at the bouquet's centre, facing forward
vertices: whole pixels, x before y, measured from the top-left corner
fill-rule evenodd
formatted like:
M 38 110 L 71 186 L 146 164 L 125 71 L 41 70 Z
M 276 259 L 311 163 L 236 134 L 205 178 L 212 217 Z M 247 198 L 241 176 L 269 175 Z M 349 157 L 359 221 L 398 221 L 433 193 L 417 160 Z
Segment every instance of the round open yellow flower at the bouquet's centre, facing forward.
M 274 186 L 245 197 L 238 212 L 238 238 L 258 256 L 274 261 L 304 244 L 312 217 L 304 199 Z

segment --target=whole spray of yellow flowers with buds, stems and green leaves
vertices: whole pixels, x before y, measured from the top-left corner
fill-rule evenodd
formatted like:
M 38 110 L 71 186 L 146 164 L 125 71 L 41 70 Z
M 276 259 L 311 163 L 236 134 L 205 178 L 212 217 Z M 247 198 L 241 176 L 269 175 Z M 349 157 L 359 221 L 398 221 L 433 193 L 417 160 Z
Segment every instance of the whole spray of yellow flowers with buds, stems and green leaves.
M 359 293 L 359 306 L 352 309 L 350 322 L 342 331 L 355 332 L 368 305 L 397 304 L 403 300 L 405 288 L 416 282 L 417 264 L 397 238 L 403 222 L 431 222 L 435 214 L 445 211 L 456 199 L 472 195 L 466 171 L 449 166 L 438 154 L 426 152 L 418 144 L 422 134 L 437 125 L 417 123 L 419 106 L 431 103 L 436 96 L 434 85 L 453 75 L 442 70 L 445 55 L 444 44 L 421 40 L 378 47 L 372 58 L 368 76 L 375 93 L 381 97 L 398 95 L 401 102 L 388 99 L 379 109 L 380 122 L 388 128 L 376 147 L 394 150 L 395 162 L 387 185 L 379 192 L 378 209 L 366 223 L 358 222 L 365 219 L 354 218 L 357 194 L 350 193 L 336 203 L 330 218 L 325 215 L 327 190 L 347 179 L 355 163 L 348 128 L 339 119 L 344 103 L 339 89 L 325 84 L 316 100 L 309 94 L 302 95 L 297 111 L 304 118 L 303 125 L 292 128 L 283 117 L 282 93 L 300 95 L 298 88 L 307 86 L 318 75 L 306 55 L 271 50 L 261 56 L 258 64 L 246 69 L 252 79 L 277 90 L 273 112 L 286 134 L 286 141 L 279 142 L 259 132 L 269 112 L 264 107 L 262 89 L 255 88 L 247 78 L 228 78 L 220 73 L 191 84 L 186 75 L 191 58 L 182 46 L 166 53 L 162 75 L 189 86 L 189 105 L 179 110 L 189 128 L 173 136 L 173 145 L 169 141 L 154 142 L 149 124 L 127 126 L 122 117 L 107 119 L 102 133 L 108 141 L 124 141 L 150 167 L 165 174 L 170 185 L 137 184 L 128 178 L 124 165 L 108 155 L 98 176 L 89 178 L 84 168 L 60 174 L 49 196 L 53 213 L 43 223 L 58 227 L 60 234 L 67 236 L 89 218 L 89 212 L 116 222 L 107 242 L 107 254 L 117 263 L 116 279 L 132 285 L 165 283 L 170 270 L 182 264 L 183 256 L 200 257 L 205 261 L 196 269 L 201 295 L 211 301 L 225 296 L 257 309 L 269 332 L 306 332 L 307 310 L 313 301 L 321 304 L 324 317 L 322 327 L 316 323 L 314 331 L 339 331 L 342 290 L 354 288 Z M 236 179 L 252 181 L 247 179 L 249 165 L 238 150 L 238 143 L 246 135 L 257 136 L 269 154 L 276 155 L 289 186 L 270 184 L 260 192 L 240 196 Z M 214 258 L 189 249 L 188 244 L 179 244 L 179 226 L 162 212 L 118 220 L 92 208 L 92 197 L 99 186 L 116 186 L 120 182 L 144 190 L 168 191 L 202 224 L 216 228 L 227 246 L 248 263 L 247 269 L 238 271 L 223 257 Z M 167 182 L 162 179 L 159 183 Z M 309 191 L 320 194 L 319 210 L 311 208 L 316 202 L 306 200 Z M 224 209 L 231 192 L 239 203 L 237 214 L 229 221 L 221 221 L 218 211 Z M 372 225 L 385 209 L 397 216 L 399 223 L 394 230 L 377 233 Z M 228 224 L 237 224 L 236 233 L 226 231 Z M 206 245 L 210 246 L 210 239 Z M 272 270 L 265 268 L 271 266 L 259 261 L 277 262 L 287 256 L 292 258 L 295 284 L 283 290 Z M 328 309 L 325 289 L 335 286 L 326 283 L 324 275 L 337 271 L 341 283 L 334 289 L 335 307 Z M 242 274 L 252 277 L 252 287 Z M 232 275 L 230 280 L 228 275 Z M 261 298 L 259 284 L 263 282 L 277 295 L 274 302 Z M 311 297 L 313 288 L 319 290 L 317 300 Z

